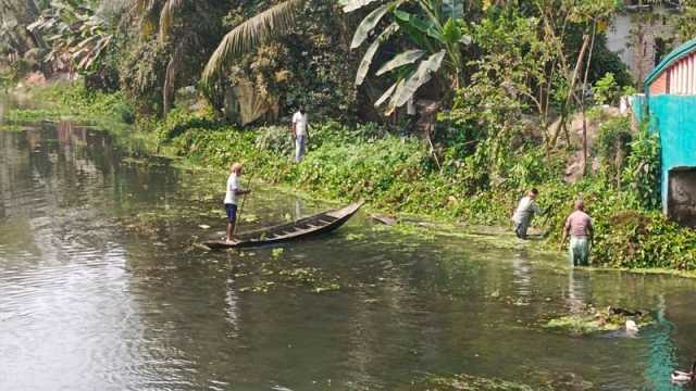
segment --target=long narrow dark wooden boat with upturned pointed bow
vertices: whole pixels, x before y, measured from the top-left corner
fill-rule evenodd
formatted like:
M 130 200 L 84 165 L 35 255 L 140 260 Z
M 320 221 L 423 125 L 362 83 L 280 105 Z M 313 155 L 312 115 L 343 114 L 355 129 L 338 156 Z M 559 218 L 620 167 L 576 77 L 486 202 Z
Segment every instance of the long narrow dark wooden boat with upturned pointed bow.
M 362 206 L 362 202 L 356 202 L 346 207 L 300 218 L 294 223 L 241 232 L 235 236 L 232 243 L 226 243 L 224 240 L 211 240 L 203 242 L 203 244 L 209 249 L 234 249 L 303 239 L 343 226 L 358 212 L 360 206 Z

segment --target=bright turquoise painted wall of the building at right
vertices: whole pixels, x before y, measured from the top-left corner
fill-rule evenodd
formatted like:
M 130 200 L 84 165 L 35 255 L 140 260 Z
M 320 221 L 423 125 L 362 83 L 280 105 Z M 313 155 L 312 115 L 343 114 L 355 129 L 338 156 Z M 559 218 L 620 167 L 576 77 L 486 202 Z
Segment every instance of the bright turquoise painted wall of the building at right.
M 696 167 L 696 96 L 648 97 L 650 129 L 659 131 L 662 150 L 662 210 L 667 212 L 668 173 Z

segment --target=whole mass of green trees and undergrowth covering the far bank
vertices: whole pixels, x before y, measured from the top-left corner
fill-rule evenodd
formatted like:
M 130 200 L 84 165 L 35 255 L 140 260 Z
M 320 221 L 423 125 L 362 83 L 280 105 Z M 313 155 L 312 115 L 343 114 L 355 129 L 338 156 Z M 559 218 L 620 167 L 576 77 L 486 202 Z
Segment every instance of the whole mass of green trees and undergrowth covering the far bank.
M 117 119 L 187 164 L 239 160 L 270 184 L 469 225 L 509 225 L 537 187 L 547 245 L 583 198 L 594 266 L 696 267 L 694 231 L 658 211 L 659 141 L 597 115 L 639 81 L 607 49 L 614 1 L 11 0 L 0 11 L 3 86 L 79 78 L 34 91 L 53 104 L 10 112 L 9 126 Z M 312 128 L 294 164 L 287 115 L 299 104 Z M 577 118 L 600 123 L 594 142 Z

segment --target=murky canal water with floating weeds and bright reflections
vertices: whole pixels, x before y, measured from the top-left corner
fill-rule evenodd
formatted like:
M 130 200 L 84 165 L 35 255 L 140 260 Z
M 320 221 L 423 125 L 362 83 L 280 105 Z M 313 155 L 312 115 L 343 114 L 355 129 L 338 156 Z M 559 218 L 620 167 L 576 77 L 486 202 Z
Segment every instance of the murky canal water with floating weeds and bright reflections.
M 224 169 L 134 157 L 71 122 L 2 126 L 0 390 L 410 390 L 459 374 L 671 390 L 696 357 L 694 280 L 573 272 L 534 243 L 362 214 L 315 240 L 208 252 Z M 333 206 L 254 185 L 243 230 Z M 588 304 L 659 321 L 635 337 L 543 327 Z

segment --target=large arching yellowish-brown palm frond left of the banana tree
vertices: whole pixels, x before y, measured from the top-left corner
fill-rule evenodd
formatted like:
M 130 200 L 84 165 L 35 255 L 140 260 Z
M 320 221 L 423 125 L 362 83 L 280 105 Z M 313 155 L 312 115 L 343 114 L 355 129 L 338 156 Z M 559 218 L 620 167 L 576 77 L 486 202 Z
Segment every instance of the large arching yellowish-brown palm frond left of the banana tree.
M 222 39 L 208 60 L 202 81 L 209 84 L 235 56 L 277 37 L 295 25 L 295 16 L 304 0 L 286 0 L 245 21 Z

